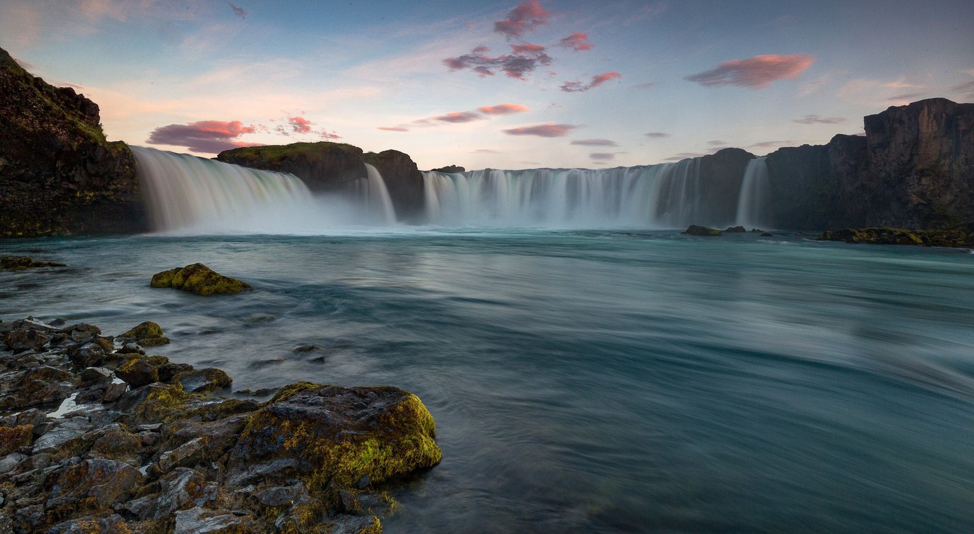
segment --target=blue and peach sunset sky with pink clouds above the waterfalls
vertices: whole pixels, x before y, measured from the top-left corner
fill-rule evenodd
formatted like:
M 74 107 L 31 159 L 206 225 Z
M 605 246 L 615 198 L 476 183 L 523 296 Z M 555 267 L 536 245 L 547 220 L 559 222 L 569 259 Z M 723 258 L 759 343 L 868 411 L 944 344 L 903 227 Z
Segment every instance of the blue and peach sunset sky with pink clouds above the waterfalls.
M 974 101 L 974 2 L 0 0 L 0 48 L 110 139 L 296 141 L 420 169 L 605 168 Z

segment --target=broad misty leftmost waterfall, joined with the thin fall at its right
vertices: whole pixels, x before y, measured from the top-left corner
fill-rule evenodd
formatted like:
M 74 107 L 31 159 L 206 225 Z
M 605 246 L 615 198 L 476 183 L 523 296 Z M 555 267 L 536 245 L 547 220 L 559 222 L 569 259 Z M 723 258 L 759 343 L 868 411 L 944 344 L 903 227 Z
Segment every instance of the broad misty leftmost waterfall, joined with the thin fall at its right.
M 353 190 L 315 197 L 293 174 L 153 148 L 131 150 L 156 231 L 315 234 L 395 220 L 382 176 L 368 165 Z

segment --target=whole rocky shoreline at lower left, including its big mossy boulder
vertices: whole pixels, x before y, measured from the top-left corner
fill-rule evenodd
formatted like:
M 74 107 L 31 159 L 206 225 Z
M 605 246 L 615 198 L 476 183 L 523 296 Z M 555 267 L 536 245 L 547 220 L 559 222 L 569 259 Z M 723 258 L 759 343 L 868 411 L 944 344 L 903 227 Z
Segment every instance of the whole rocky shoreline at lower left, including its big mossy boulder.
M 28 317 L 0 339 L 0 534 L 375 534 L 385 489 L 441 457 L 398 388 L 231 393 L 220 369 L 147 354 L 169 342 L 154 323 Z

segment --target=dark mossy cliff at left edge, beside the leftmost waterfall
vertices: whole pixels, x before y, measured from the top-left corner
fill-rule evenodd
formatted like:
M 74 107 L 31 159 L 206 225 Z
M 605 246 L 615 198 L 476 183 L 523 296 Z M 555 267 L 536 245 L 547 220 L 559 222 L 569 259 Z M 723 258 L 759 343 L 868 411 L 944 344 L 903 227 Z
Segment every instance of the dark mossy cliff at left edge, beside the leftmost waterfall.
M 0 49 L 0 238 L 146 229 L 131 151 L 98 106 Z

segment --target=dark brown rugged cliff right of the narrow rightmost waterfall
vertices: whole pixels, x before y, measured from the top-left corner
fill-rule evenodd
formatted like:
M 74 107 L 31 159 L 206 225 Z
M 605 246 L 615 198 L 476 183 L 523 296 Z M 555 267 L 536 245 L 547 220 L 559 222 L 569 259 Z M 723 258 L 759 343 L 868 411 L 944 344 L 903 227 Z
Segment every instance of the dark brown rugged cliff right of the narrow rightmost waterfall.
M 946 98 L 865 118 L 866 136 L 768 155 L 775 224 L 942 228 L 974 221 L 974 104 Z

